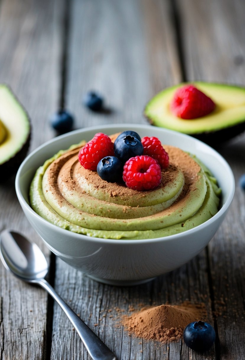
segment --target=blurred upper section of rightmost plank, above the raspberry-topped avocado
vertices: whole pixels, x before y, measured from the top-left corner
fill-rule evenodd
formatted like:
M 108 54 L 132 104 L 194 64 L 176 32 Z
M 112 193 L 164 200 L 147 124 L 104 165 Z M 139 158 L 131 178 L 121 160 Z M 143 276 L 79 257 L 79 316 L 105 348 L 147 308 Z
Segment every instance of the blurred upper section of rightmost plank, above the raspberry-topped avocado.
M 189 80 L 244 85 L 244 1 L 177 1 Z

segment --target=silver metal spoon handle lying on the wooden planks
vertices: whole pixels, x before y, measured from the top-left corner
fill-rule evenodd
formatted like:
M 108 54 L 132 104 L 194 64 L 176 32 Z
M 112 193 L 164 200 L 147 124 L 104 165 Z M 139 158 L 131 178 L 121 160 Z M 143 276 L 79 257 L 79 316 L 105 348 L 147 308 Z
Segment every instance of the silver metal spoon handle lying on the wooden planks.
M 66 316 L 77 330 L 80 338 L 82 339 L 89 355 L 93 360 L 116 360 L 116 356 L 111 350 L 101 341 L 100 338 L 75 314 L 75 312 L 68 306 L 65 301 L 57 294 L 54 288 L 45 280 L 40 279 L 35 281 L 41 285 L 55 301 L 64 310 Z

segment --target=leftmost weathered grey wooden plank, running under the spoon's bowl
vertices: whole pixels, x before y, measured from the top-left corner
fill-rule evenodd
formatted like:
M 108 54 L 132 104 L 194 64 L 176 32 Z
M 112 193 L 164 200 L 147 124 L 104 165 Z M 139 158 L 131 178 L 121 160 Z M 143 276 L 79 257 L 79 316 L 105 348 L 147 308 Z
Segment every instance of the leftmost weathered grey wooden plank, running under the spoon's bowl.
M 63 1 L 0 2 L 0 81 L 11 86 L 29 113 L 31 149 L 53 136 L 48 116 L 58 101 L 62 11 Z M 0 198 L 0 229 L 20 231 L 48 256 L 19 206 L 14 178 L 0 185 Z M 6 273 L 2 264 L 0 292 L 1 359 L 43 359 L 47 350 L 47 294 Z

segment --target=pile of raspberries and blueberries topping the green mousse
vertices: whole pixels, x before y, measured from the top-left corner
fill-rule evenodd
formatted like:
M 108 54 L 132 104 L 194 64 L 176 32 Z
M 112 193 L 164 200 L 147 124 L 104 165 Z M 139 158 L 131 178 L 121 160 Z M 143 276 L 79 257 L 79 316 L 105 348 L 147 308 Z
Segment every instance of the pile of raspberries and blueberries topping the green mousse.
M 97 170 L 106 181 L 123 180 L 131 189 L 152 190 L 161 183 L 161 168 L 168 167 L 168 154 L 155 137 L 140 138 L 135 131 L 124 131 L 114 141 L 103 133 L 95 134 L 80 149 L 78 159 L 85 169 Z M 105 156 L 106 155 L 106 156 Z

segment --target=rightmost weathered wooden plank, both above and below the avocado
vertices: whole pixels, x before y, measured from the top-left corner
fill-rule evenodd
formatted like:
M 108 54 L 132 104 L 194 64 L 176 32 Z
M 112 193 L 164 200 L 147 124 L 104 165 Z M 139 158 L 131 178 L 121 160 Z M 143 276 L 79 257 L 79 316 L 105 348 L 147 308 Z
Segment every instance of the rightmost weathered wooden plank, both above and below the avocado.
M 244 85 L 244 1 L 178 3 L 188 78 Z M 234 171 L 237 186 L 231 209 L 209 245 L 219 352 L 227 360 L 245 358 L 244 192 L 238 185 L 245 172 L 244 140 L 241 135 L 219 149 Z

